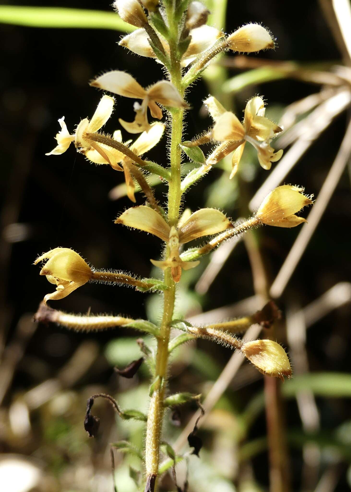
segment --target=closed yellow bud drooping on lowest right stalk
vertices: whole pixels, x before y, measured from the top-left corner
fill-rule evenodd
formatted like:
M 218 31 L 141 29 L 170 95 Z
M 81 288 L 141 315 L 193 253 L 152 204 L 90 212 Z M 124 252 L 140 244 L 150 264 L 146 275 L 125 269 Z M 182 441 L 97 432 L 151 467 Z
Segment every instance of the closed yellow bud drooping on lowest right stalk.
M 263 374 L 290 377 L 292 369 L 284 348 L 273 340 L 254 340 L 244 343 L 241 352 Z

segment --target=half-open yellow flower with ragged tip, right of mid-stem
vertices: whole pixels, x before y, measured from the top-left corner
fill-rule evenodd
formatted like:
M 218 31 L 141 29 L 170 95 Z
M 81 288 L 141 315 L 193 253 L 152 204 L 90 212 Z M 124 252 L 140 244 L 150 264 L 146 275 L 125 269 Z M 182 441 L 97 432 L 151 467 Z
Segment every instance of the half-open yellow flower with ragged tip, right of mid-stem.
M 284 184 L 273 189 L 263 200 L 256 217 L 263 224 L 277 227 L 295 227 L 306 222 L 303 217 L 294 215 L 306 205 L 313 203 L 313 195 L 305 196 L 304 188 Z

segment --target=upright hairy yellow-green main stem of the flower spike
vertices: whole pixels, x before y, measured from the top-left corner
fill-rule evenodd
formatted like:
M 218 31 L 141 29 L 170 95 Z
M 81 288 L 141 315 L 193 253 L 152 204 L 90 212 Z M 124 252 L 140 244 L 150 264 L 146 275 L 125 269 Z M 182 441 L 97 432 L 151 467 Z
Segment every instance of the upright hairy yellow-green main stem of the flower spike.
M 180 57 L 177 50 L 178 40 L 178 24 L 175 22 L 174 2 L 168 2 L 166 5 L 166 15 L 169 24 L 169 39 L 170 46 L 170 76 L 171 82 L 178 89 L 181 96 L 184 92 L 181 88 L 181 66 Z M 168 189 L 168 223 L 170 226 L 176 225 L 179 218 L 180 208 L 180 165 L 181 165 L 181 143 L 183 132 L 183 114 L 182 109 L 174 108 L 170 110 L 171 116 L 171 142 L 170 142 L 170 164 L 171 178 L 169 180 Z M 168 257 L 169 248 L 165 248 L 165 259 Z M 146 426 L 146 492 L 153 492 L 155 479 L 158 475 L 159 467 L 159 448 L 160 436 L 162 431 L 163 421 L 163 400 L 165 394 L 167 368 L 168 368 L 168 343 L 170 339 L 170 323 L 173 317 L 175 305 L 175 282 L 171 276 L 170 268 L 165 270 L 164 284 L 169 288 L 164 294 L 164 305 L 162 322 L 160 326 L 160 334 L 157 341 L 156 354 L 156 381 L 158 386 L 153 389 L 151 396 L 147 426 Z

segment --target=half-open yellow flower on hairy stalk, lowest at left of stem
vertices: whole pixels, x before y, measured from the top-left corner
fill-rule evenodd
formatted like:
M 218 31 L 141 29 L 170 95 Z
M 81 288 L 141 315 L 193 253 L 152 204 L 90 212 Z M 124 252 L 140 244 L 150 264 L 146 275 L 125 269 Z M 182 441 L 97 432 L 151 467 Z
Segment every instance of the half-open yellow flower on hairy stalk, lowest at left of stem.
M 40 275 L 45 275 L 50 283 L 57 285 L 56 292 L 44 297 L 45 304 L 49 300 L 63 299 L 92 277 L 88 263 L 73 249 L 66 247 L 51 249 L 39 256 L 34 265 L 44 259 L 49 261 L 41 269 Z

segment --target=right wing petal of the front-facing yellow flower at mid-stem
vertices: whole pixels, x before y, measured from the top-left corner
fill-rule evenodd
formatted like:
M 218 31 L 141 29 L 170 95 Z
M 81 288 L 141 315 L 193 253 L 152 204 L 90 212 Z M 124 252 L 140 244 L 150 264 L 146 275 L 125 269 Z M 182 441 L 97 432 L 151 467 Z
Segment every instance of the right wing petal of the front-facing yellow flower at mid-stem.
M 193 239 L 217 234 L 232 227 L 231 221 L 216 209 L 200 209 L 183 222 L 178 230 L 179 243 L 184 244 Z

